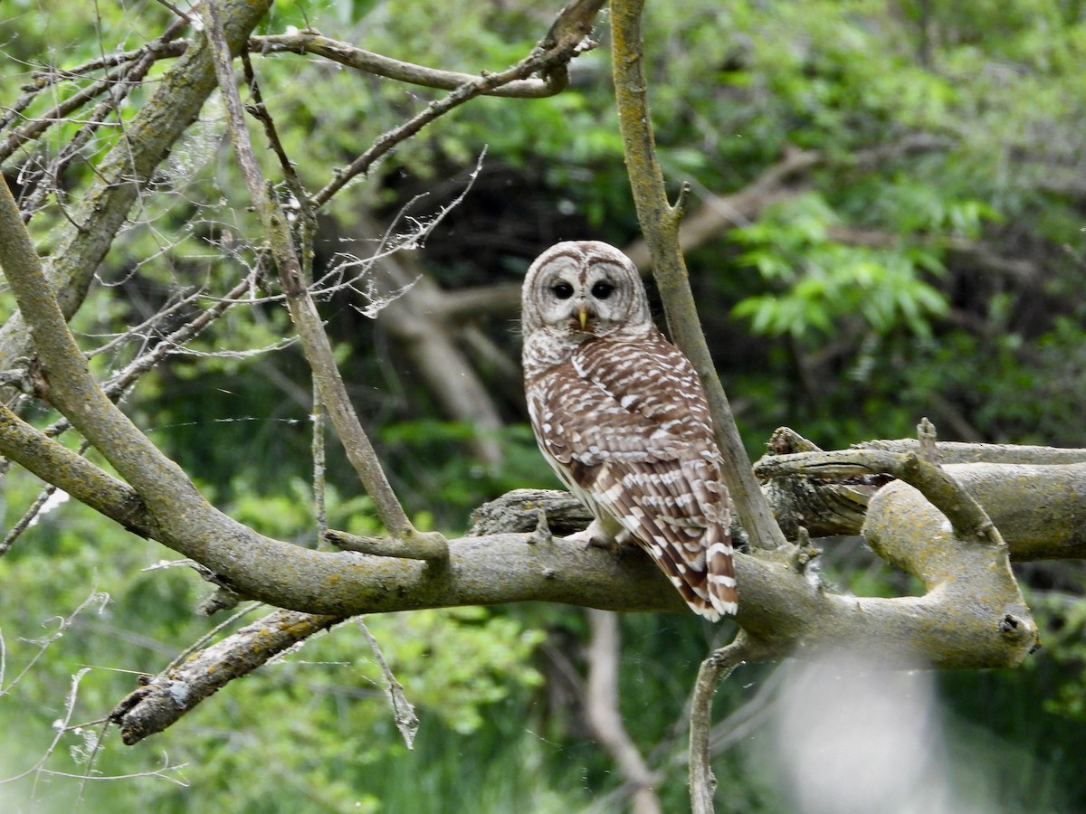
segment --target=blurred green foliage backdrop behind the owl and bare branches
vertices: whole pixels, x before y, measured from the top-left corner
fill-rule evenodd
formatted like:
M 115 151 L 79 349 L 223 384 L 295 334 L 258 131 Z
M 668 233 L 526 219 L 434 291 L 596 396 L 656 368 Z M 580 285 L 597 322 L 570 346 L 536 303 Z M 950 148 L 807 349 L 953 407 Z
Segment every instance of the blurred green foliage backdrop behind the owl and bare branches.
M 520 0 L 281 2 L 260 33 L 314 28 L 477 74 L 518 60 L 556 11 Z M 99 3 L 93 13 L 74 0 L 4 4 L 0 137 L 90 81 L 51 71 L 138 48 L 172 20 L 149 0 Z M 1086 446 L 1083 3 L 697 0 L 649 3 L 646 26 L 660 158 L 669 178 L 694 185 L 691 278 L 752 455 L 780 424 L 839 448 L 911 435 L 921 416 L 942 440 Z M 475 507 L 509 488 L 557 485 L 526 427 L 516 292 L 530 259 L 557 240 L 602 239 L 636 256 L 605 28 L 602 47 L 572 63 L 563 93 L 476 100 L 321 212 L 318 279 L 344 274 L 349 254 L 371 253 L 470 185 L 425 245 L 389 257 L 353 302 L 337 298 L 324 314 L 355 406 L 422 527 L 464 530 Z M 286 152 L 304 158 L 296 170 L 310 191 L 439 94 L 313 56 L 256 52 L 252 62 Z M 163 69 L 156 63 L 152 78 Z M 46 74 L 51 91 L 12 112 Z M 86 187 L 96 156 L 149 92 L 136 89 L 58 177 L 42 173 L 81 114 L 5 149 L 12 188 L 24 200 L 48 191 L 36 236 L 48 243 L 66 222 L 67 195 Z M 225 133 L 213 98 L 154 178 L 159 194 L 134 211 L 99 269 L 73 320 L 83 336 L 104 344 L 194 281 L 222 284 L 230 279 L 224 252 L 255 263 L 257 247 L 239 237 L 251 215 L 238 208 Z M 270 153 L 262 157 L 276 166 Z M 0 307 L 7 318 L 7 293 Z M 288 334 L 278 306 L 228 314 L 144 377 L 126 409 L 216 505 L 304 540 L 311 385 Z M 139 349 L 108 347 L 93 365 L 106 372 Z M 345 460 L 330 455 L 332 524 L 376 527 Z M 5 527 L 38 488 L 22 471 L 4 475 Z M 143 776 L 36 772 L 0 786 L 0 802 L 565 812 L 620 807 L 631 792 L 586 727 L 592 631 L 582 611 L 564 607 L 367 620 L 418 707 L 412 752 L 394 734 L 368 645 L 350 626 L 231 686 L 147 748 L 109 739 L 99 748 L 93 725 L 61 735 L 52 723 L 66 720 L 65 699 L 70 723 L 93 721 L 131 686 L 131 671 L 156 672 L 213 626 L 193 615 L 203 589 L 191 575 L 147 571 L 161 556 L 74 501 L 5 554 L 0 729 L 18 737 L 0 745 L 0 779 L 30 768 L 58 736 L 46 772 L 78 776 L 92 758 L 103 776 Z M 857 593 L 900 587 L 900 575 L 855 543 L 830 547 L 826 561 L 830 578 Z M 976 810 L 1083 810 L 1083 570 L 1033 563 L 1019 575 L 1053 646 L 1021 671 L 936 676 L 943 748 L 961 758 L 956 788 Z M 659 775 L 664 809 L 682 810 L 683 703 L 705 650 L 729 632 L 665 614 L 623 616 L 620 626 L 621 710 L 636 721 L 631 736 Z M 88 669 L 74 694 L 72 676 Z M 771 666 L 743 667 L 721 687 L 718 709 L 746 717 L 731 721 L 744 737 L 721 734 L 720 810 L 792 804 L 766 758 L 766 722 L 780 703 L 773 681 Z M 986 768 L 970 775 L 977 761 L 967 755 L 982 749 Z M 971 798 L 985 785 L 988 797 Z

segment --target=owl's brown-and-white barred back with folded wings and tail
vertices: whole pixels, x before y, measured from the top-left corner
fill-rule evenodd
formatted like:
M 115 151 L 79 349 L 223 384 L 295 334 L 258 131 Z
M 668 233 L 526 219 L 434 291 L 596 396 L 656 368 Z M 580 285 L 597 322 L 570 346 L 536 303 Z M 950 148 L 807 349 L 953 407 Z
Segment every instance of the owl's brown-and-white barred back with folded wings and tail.
M 590 342 L 531 396 L 545 449 L 636 539 L 693 610 L 736 610 L 729 499 L 708 405 L 656 342 Z

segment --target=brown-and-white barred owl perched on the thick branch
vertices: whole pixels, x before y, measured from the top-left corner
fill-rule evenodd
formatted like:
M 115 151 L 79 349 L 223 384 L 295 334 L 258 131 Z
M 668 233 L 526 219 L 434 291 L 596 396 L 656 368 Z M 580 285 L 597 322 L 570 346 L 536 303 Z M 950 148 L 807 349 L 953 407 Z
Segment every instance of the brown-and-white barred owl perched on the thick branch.
M 694 367 L 653 323 L 633 263 L 570 241 L 521 297 L 525 393 L 543 457 L 593 513 L 572 538 L 643 548 L 694 612 L 735 613 L 730 501 Z

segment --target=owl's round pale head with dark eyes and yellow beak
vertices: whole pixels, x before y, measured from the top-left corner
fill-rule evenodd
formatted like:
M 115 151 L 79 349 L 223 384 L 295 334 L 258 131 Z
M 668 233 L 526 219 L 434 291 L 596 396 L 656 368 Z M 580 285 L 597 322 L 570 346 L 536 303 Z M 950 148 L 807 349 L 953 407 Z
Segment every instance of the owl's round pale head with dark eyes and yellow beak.
M 528 269 L 521 293 L 525 335 L 641 335 L 653 325 L 641 276 L 615 246 L 595 240 L 556 243 Z

